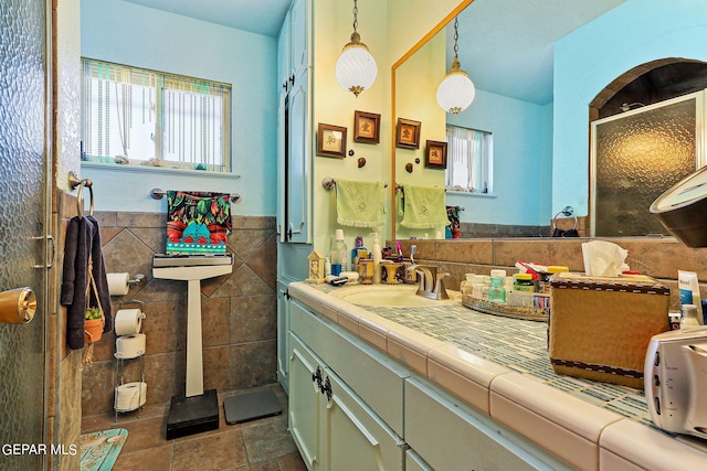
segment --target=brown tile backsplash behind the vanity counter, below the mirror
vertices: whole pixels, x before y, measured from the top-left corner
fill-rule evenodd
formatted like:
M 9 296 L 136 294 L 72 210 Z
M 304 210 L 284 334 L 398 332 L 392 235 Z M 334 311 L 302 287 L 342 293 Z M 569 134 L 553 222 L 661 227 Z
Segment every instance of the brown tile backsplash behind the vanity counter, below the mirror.
M 403 254 L 416 245 L 416 263 L 437 265 L 449 271 L 444 280 L 447 289 L 458 290 L 465 274 L 488 275 L 492 268 L 504 268 L 508 275 L 517 272 L 517 260 L 546 265 L 561 265 L 571 271 L 584 271 L 582 243 L 590 238 L 497 238 L 401 240 Z M 697 272 L 700 298 L 707 295 L 707 248 L 689 248 L 674 237 L 605 238 L 629 250 L 626 264 L 632 270 L 656 278 L 671 288 L 671 309 L 679 310 L 677 270 Z M 387 240 L 388 246 L 394 246 Z

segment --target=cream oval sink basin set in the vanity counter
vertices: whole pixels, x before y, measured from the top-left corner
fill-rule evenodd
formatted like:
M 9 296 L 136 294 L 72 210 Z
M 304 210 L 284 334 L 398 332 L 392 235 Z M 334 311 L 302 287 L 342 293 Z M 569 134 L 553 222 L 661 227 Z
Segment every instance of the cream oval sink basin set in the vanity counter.
M 437 300 L 416 296 L 418 285 L 369 285 L 342 287 L 330 295 L 351 304 L 392 308 L 422 308 L 458 301 L 458 291 L 447 290 L 450 299 Z

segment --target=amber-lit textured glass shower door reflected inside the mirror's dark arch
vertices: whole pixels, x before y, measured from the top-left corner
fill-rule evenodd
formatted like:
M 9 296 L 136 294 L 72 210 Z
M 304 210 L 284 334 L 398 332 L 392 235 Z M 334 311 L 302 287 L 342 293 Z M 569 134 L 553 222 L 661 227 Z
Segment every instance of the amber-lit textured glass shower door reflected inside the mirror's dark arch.
M 669 235 L 648 208 L 700 161 L 704 94 L 592 124 L 592 236 Z

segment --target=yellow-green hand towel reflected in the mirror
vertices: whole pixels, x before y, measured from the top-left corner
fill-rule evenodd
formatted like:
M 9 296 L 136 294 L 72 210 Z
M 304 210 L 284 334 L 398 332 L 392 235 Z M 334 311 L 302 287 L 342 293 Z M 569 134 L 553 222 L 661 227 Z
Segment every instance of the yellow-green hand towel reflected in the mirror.
M 446 204 L 443 188 L 404 186 L 403 227 L 413 229 L 433 229 L 450 224 L 446 217 Z

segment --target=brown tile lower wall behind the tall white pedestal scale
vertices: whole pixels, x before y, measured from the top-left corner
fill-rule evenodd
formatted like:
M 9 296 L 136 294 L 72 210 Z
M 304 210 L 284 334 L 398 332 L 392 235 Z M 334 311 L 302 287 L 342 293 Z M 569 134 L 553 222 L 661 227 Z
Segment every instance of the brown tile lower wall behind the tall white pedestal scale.
M 166 216 L 98 212 L 96 217 L 107 271 L 146 276 L 126 296 L 112 298 L 113 312 L 120 301 L 145 303 L 146 405 L 168 404 L 184 393 L 187 281 L 152 278 L 152 255 L 165 251 Z M 273 384 L 277 371 L 275 218 L 233 216 L 232 223 L 232 274 L 201 282 L 203 387 L 219 393 Z M 104 334 L 83 372 L 84 417 L 113 411 L 114 353 L 115 334 Z M 137 365 L 126 363 L 125 382 L 139 381 Z

